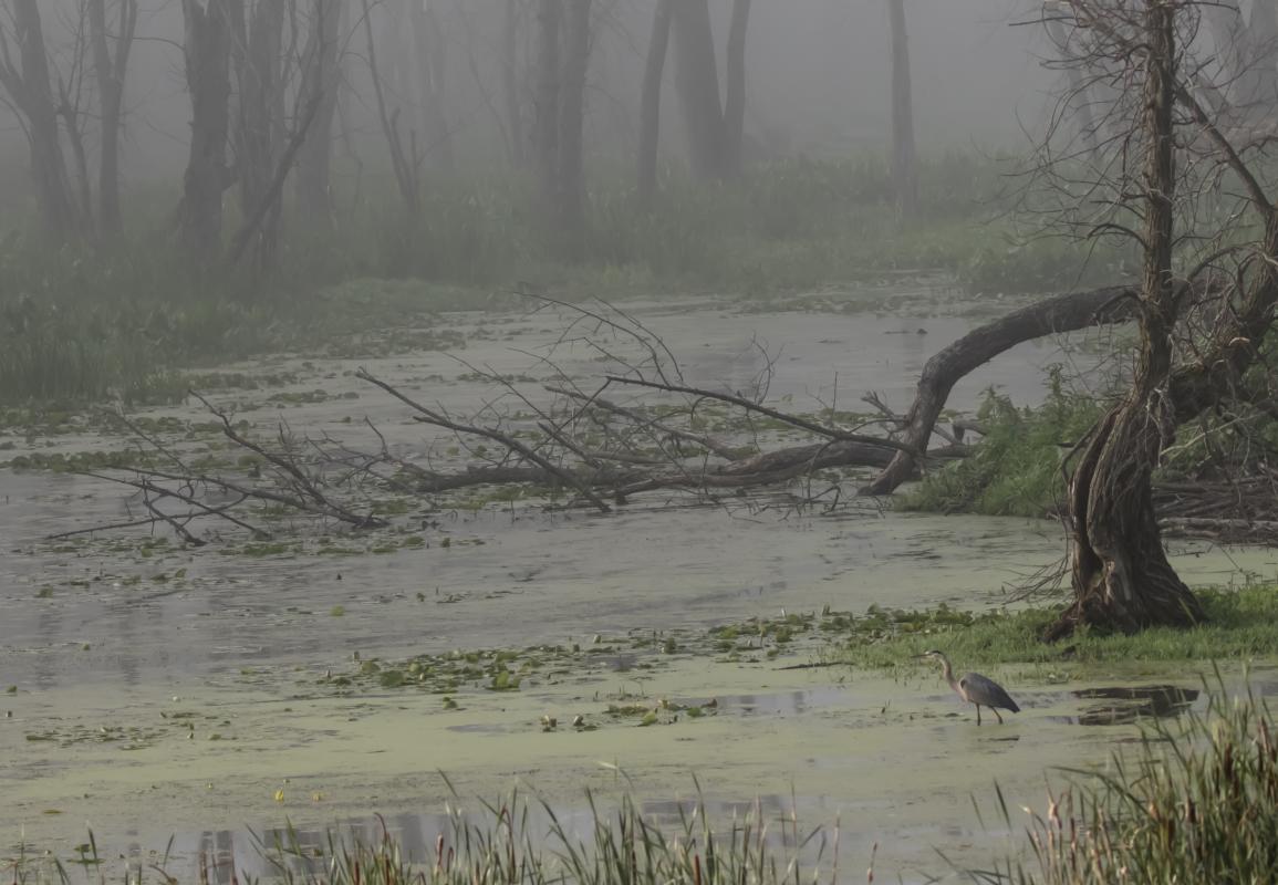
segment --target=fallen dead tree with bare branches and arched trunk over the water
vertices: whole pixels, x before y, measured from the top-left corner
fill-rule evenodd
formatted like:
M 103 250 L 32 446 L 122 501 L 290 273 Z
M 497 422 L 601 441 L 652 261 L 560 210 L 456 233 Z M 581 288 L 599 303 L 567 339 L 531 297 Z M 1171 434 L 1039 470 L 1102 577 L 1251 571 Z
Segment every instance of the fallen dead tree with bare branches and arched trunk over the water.
M 441 434 L 427 457 L 403 455 L 404 441 L 387 441 L 372 424 L 367 427 L 377 435 L 376 448 L 295 438 L 285 427 L 263 443 L 199 397 L 224 437 L 254 465 L 252 473 L 198 469 L 121 418 L 162 464 L 95 475 L 133 490 L 143 515 L 129 525 L 162 522 L 187 543 L 199 543 L 188 526 L 207 520 L 268 535 L 268 526 L 245 515 L 254 506 L 357 529 L 378 527 L 386 525 L 377 512 L 380 497 L 424 495 L 447 507 L 450 494 L 501 487 L 524 487 L 556 506 L 604 513 L 635 495 L 661 492 L 714 503 L 774 489 L 789 495 L 791 506 L 803 507 L 828 502 L 831 489 L 833 499 L 846 501 L 841 489 L 858 478 L 864 481 L 864 471 L 873 470 L 878 475 L 861 493 L 877 495 L 918 478 L 921 470 L 962 458 L 980 444 L 969 435 L 985 433 L 978 421 L 958 418 L 948 428 L 937 423 L 950 391 L 965 374 L 1022 341 L 1123 322 L 1130 317 L 1130 296 L 1125 287 L 1059 295 L 980 326 L 927 363 L 906 414 L 896 414 L 881 397 L 866 393 L 861 401 L 868 411 L 856 427 L 828 420 L 832 409 L 794 414 L 768 405 L 771 360 L 746 391 L 697 387 L 685 381 L 665 344 L 629 314 L 561 305 L 574 310 L 575 319 L 542 359 L 553 369 L 551 381 L 535 388 L 519 386 L 459 360 L 498 391 L 473 415 L 451 415 L 369 372 L 357 373 L 404 404 L 418 425 Z M 607 363 L 593 388 L 583 387 L 589 379 L 556 368 L 553 351 L 570 345 L 588 346 Z M 796 435 L 806 439 L 790 442 Z M 941 444 L 933 446 L 933 437 Z M 441 457 L 441 448 L 456 455 Z M 1255 501 L 1261 498 L 1274 501 L 1275 495 L 1252 494 Z M 1171 533 L 1278 540 L 1278 533 L 1268 527 L 1278 525 L 1278 508 L 1273 513 L 1264 507 L 1231 511 L 1223 487 L 1168 485 L 1158 501 Z

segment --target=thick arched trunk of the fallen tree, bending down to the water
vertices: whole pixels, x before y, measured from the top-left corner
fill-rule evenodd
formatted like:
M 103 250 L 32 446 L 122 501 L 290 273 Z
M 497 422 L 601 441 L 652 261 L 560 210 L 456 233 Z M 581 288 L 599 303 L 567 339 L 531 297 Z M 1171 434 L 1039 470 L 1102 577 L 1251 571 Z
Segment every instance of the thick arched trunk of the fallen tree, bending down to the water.
M 950 391 L 976 368 L 1019 344 L 1045 335 L 1126 322 L 1132 318 L 1134 298 L 1135 290 L 1126 286 L 1070 292 L 1030 304 L 973 329 L 934 354 L 923 367 L 914 404 L 905 415 L 901 442 L 914 451 L 927 450 Z M 914 475 L 915 469 L 915 458 L 909 452 L 900 451 L 874 481 L 860 492 L 891 494 Z

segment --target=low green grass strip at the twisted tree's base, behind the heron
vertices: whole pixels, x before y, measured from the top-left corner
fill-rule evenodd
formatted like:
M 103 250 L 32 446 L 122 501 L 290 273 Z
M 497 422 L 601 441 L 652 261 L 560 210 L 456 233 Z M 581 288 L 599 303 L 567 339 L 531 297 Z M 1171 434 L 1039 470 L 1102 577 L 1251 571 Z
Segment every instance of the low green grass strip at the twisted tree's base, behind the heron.
M 1134 635 L 1080 630 L 1067 642 L 1048 645 L 1043 632 L 1057 608 L 948 617 L 918 613 L 923 628 L 895 630 L 878 637 L 854 635 L 831 656 L 856 667 L 889 668 L 930 649 L 956 667 L 994 664 L 1140 664 L 1171 660 L 1226 660 L 1273 656 L 1278 650 L 1278 585 L 1196 591 L 1208 621 L 1189 630 L 1154 627 Z M 900 623 L 900 617 L 892 621 Z M 1062 653 L 1068 649 L 1068 656 Z

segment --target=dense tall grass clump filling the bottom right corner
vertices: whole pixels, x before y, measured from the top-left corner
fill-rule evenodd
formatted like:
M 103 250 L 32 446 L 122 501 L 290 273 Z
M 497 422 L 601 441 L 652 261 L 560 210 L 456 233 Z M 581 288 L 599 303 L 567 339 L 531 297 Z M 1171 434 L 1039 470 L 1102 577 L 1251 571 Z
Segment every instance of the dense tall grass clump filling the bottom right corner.
M 1249 692 L 1209 686 L 1209 705 L 1187 722 L 1155 720 L 1137 753 L 1112 771 L 1072 773 L 1028 829 L 1031 868 L 1008 865 L 999 881 L 1272 882 L 1278 870 L 1278 736 Z M 1011 824 L 1006 805 L 1006 822 Z

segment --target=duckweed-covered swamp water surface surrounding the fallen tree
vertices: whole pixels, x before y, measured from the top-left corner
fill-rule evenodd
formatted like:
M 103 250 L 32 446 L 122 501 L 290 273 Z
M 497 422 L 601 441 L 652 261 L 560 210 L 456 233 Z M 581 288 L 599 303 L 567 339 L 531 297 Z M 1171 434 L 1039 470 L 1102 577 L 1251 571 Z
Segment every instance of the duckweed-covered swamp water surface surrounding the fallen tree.
M 689 383 L 744 390 L 771 360 L 771 396 L 799 411 L 852 409 L 845 401 L 865 391 L 906 407 L 927 358 L 971 324 L 927 312 L 743 314 L 717 303 L 639 313 Z M 468 414 L 493 396 L 474 367 L 533 387 L 550 381 L 529 354 L 557 341 L 567 318 L 443 321 L 465 338 L 469 365 L 433 351 L 281 356 L 224 369 L 279 383 L 211 400 L 266 434 L 286 420 L 354 447 L 377 444 L 367 416 L 403 457 L 429 453 L 438 466 L 447 441 L 351 372 L 367 367 Z M 1043 367 L 1077 354 L 1017 347 L 960 383 L 951 406 L 971 410 L 990 386 L 1034 402 Z M 561 344 L 556 361 L 588 378 L 596 356 Z M 207 420 L 198 404 L 138 414 Z M 129 438 L 72 427 L 5 442 L 4 456 L 17 457 L 124 448 Z M 173 444 L 198 450 L 201 439 L 175 433 Z M 672 803 L 697 796 L 695 773 L 713 813 L 758 801 L 774 830 L 791 811 L 800 830 L 837 819 L 845 871 L 864 871 L 878 843 L 878 875 L 916 881 L 950 870 L 934 848 L 984 865 L 1006 847 L 973 813 L 973 796 L 992 799 L 996 779 L 1010 806 L 1039 807 L 1045 769 L 1104 764 L 1136 734 L 1123 710 L 1174 715 L 1200 702 L 1173 691 L 1196 688 L 1192 674 L 1122 669 L 1062 686 L 1043 667 L 1008 668 L 990 676 L 1024 713 L 976 728 L 932 670 L 783 669 L 815 660 L 819 642 L 760 637 L 726 653 L 705 641 L 714 624 L 782 612 L 998 604 L 1005 587 L 1062 554 L 1052 524 L 869 502 L 823 515 L 782 495 L 732 508 L 654 497 L 607 516 L 423 502 L 404 517 L 424 539 L 414 544 L 343 533 L 330 547 L 215 539 L 187 549 L 137 531 L 43 540 L 129 516 L 119 487 L 102 480 L 0 469 L 0 691 L 12 686 L 0 695 L 0 856 L 23 843 L 70 857 L 91 828 L 111 862 L 174 836 L 171 872 L 189 874 L 204 851 L 225 877 L 230 862 L 266 871 L 245 826 L 289 821 L 316 840 L 332 825 L 372 833 L 373 812 L 424 854 L 449 782 L 455 802 L 475 808 L 523 784 L 584 828 L 587 788 L 603 803 L 629 790 L 668 820 Z M 299 535 L 313 531 L 299 522 Z M 1274 559 L 1200 545 L 1174 557 L 1197 584 L 1273 577 Z M 464 673 L 470 656 L 491 660 L 481 649 L 518 651 L 512 672 L 535 667 L 518 686 L 486 672 L 445 693 L 423 691 L 413 678 L 424 670 L 403 665 L 429 654 L 432 667 L 452 660 Z M 382 678 L 387 670 L 403 678 Z M 1164 687 L 1121 696 L 1151 685 Z M 1263 674 L 1258 685 L 1269 688 Z

